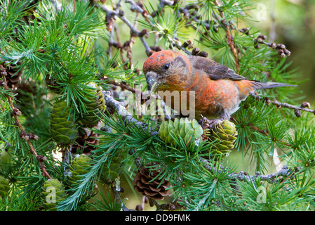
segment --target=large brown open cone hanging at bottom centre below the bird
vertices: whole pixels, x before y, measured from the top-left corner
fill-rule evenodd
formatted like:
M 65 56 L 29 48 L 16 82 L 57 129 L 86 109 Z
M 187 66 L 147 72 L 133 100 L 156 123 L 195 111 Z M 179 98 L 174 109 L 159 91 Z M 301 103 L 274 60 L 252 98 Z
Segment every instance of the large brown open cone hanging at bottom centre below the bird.
M 135 191 L 138 191 L 142 195 L 155 200 L 163 200 L 165 196 L 170 195 L 170 190 L 166 188 L 170 187 L 168 181 L 156 178 L 159 172 L 156 170 L 149 170 L 146 167 L 140 167 L 139 172 L 135 175 L 133 180 L 133 187 Z M 156 178 L 156 179 L 154 179 Z M 152 181 L 152 179 L 154 179 Z

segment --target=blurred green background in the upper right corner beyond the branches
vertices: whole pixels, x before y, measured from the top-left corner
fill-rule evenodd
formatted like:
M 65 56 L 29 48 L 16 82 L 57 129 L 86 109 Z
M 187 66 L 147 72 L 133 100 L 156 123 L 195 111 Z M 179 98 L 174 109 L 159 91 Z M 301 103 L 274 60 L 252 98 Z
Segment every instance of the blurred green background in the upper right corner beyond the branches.
M 291 70 L 297 69 L 300 80 L 307 79 L 299 87 L 314 107 L 315 95 L 315 1 L 314 0 L 268 0 L 261 1 L 267 7 L 267 20 L 256 23 L 269 41 L 285 44 L 291 52 L 288 62 Z

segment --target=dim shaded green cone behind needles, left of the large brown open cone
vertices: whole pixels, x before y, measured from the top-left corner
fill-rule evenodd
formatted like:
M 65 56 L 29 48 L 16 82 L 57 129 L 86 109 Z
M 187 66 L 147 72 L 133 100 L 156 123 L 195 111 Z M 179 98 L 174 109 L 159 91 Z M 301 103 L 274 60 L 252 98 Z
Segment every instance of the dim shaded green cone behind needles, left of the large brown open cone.
M 102 174 L 100 175 L 100 179 L 105 184 L 114 182 L 115 179 L 117 179 L 120 174 L 123 172 L 123 150 L 118 150 L 116 152 L 116 155 L 111 159 L 110 163 L 105 162 L 103 168 L 102 168 Z M 109 167 L 108 167 L 109 166 Z

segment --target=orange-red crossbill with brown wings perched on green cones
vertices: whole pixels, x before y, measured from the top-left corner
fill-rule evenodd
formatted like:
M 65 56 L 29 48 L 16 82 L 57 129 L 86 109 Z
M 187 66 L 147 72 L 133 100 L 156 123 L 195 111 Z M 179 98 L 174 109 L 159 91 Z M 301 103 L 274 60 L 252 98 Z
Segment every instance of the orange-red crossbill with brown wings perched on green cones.
M 194 91 L 195 117 L 229 120 L 230 115 L 239 109 L 241 101 L 257 89 L 271 89 L 279 86 L 295 86 L 276 82 L 259 82 L 237 75 L 214 60 L 201 56 L 183 56 L 175 51 L 158 51 L 143 65 L 147 79 L 147 89 L 155 86 L 160 91 L 187 91 L 185 101 L 189 105 L 189 91 Z M 183 95 L 185 96 L 185 95 Z M 164 96 L 167 98 L 167 96 Z M 171 96 L 168 96 L 169 98 Z M 183 97 L 182 97 L 183 98 Z M 164 100 L 165 101 L 165 100 Z M 167 102 L 167 101 L 166 101 Z M 170 107 L 184 101 L 173 100 Z

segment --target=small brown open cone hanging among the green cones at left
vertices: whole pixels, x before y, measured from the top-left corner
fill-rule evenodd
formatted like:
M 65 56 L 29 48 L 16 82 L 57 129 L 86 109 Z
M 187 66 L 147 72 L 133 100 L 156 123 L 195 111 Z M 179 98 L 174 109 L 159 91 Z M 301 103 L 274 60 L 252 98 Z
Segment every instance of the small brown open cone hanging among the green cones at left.
M 72 153 L 76 154 L 78 148 L 83 148 L 83 154 L 89 155 L 92 150 L 95 150 L 94 146 L 98 145 L 97 138 L 98 134 L 95 134 L 93 131 L 80 130 L 78 138 L 72 145 Z

